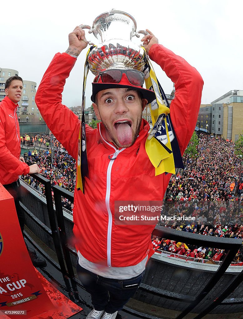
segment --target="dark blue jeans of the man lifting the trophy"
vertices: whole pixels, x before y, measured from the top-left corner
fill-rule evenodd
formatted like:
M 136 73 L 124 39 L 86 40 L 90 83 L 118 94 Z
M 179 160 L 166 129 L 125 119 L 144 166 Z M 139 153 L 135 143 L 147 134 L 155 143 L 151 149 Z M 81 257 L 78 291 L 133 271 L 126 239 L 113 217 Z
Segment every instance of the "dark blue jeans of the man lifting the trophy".
M 79 279 L 86 291 L 91 294 L 95 310 L 105 310 L 109 314 L 121 310 L 134 295 L 142 281 L 144 272 L 130 279 L 104 278 L 77 263 Z

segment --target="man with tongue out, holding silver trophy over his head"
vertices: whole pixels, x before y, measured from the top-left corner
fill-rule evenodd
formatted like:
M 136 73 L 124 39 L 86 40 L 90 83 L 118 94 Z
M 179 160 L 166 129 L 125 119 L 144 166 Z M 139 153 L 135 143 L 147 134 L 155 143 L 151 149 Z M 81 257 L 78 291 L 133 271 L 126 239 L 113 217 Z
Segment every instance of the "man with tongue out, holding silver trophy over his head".
M 148 63 L 148 57 L 144 58 L 146 53 L 140 53 L 140 48 L 130 49 L 131 42 L 129 45 L 123 42 L 121 50 L 122 40 L 117 35 L 112 43 L 111 37 L 105 39 L 112 21 L 116 19 L 117 22 L 121 15 L 119 11 L 116 11 L 117 15 L 114 11 L 110 12 L 106 13 L 105 25 L 103 16 L 96 18 L 93 30 L 94 26 L 96 29 L 99 27 L 99 32 L 93 32 L 95 36 L 98 34 L 97 38 L 99 34 L 102 36 L 100 44 L 91 48 L 87 58 L 89 68 L 95 74 L 91 100 L 95 114 L 101 120 L 98 129 L 86 126 L 84 132 L 82 125 L 80 130 L 78 117 L 62 105 L 65 79 L 80 52 L 87 47 L 85 32 L 80 27 L 69 34 L 67 51 L 54 56 L 35 98 L 49 129 L 76 159 L 77 171 L 83 163 L 84 151 L 87 152 L 88 175 L 82 174 L 82 179 L 77 179 L 74 192 L 73 233 L 78 251 L 77 272 L 91 294 L 94 306 L 88 319 L 114 319 L 141 283 L 146 263 L 154 253 L 151 233 L 156 222 L 154 225 L 117 225 L 114 221 L 115 201 L 163 199 L 171 177 L 166 173 L 173 171 L 170 167 L 177 156 L 173 154 L 173 159 L 173 148 L 170 151 L 168 146 L 170 140 L 166 127 L 171 124 L 169 120 L 164 121 L 170 113 L 174 127 L 171 131 L 175 133 L 173 138 L 177 137 L 183 154 L 196 126 L 203 86 L 202 78 L 194 67 L 158 44 L 149 30 L 143 33 L 141 41 L 149 58 L 161 66 L 176 88 L 170 109 L 162 105 L 162 112 L 157 112 L 155 117 L 153 131 L 162 130 L 161 127 L 166 129 L 168 147 L 162 146 L 169 154 L 162 158 L 156 155 L 159 160 L 155 164 L 153 155 L 156 151 L 153 150 L 156 145 L 152 144 L 152 155 L 147 147 L 148 139 L 154 141 L 154 136 L 151 132 L 149 134 L 150 127 L 142 119 L 142 111 L 148 103 L 151 103 L 151 113 L 155 109 L 158 111 L 157 106 L 160 101 L 163 104 L 163 98 L 154 79 L 151 87 L 143 88 L 148 78 L 146 70 L 151 72 L 150 66 L 144 70 Z M 135 23 L 131 16 L 122 14 L 123 23 L 125 19 Z M 113 20 L 107 23 L 108 19 Z M 158 122 L 160 125 L 156 128 Z M 96 243 L 92 249 L 90 241 Z

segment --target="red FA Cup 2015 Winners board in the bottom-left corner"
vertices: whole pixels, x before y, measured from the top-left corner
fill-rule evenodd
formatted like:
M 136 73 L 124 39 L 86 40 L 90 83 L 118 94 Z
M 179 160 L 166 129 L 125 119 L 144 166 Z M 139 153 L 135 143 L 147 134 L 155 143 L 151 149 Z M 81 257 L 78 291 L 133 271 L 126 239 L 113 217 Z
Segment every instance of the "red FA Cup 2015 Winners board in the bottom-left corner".
M 60 317 L 59 305 L 49 298 L 42 285 L 45 281 L 41 282 L 27 252 L 13 197 L 1 184 L 0 220 L 1 318 L 39 318 L 39 315 L 50 310 L 53 319 L 69 318 L 79 312 L 81 308 L 74 304 L 76 311 L 66 316 L 64 308 Z M 68 313 L 69 309 L 66 312 Z M 48 318 L 45 315 L 41 317 Z

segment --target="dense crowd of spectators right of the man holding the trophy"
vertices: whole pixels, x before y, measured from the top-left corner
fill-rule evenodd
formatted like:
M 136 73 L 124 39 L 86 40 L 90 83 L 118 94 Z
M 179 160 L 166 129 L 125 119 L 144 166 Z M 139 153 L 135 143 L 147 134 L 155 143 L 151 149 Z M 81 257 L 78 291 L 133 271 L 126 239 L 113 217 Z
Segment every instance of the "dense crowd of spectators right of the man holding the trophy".
M 163 215 L 194 217 L 191 222 L 162 220 L 160 225 L 206 236 L 243 239 L 243 190 L 239 174 L 243 158 L 234 154 L 234 143 L 201 134 L 196 159 L 184 156 L 185 169 L 172 175 Z M 193 258 L 194 261 L 222 261 L 224 249 L 197 247 L 152 236 L 158 251 Z M 234 262 L 243 262 L 243 248 Z

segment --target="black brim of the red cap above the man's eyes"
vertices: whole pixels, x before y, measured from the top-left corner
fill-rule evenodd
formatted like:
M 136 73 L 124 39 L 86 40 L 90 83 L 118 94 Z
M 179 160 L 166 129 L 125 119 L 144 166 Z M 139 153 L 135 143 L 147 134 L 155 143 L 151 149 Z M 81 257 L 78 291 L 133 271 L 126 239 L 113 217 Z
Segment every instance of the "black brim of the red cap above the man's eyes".
M 114 89 L 114 88 L 129 88 L 132 90 L 136 90 L 141 92 L 142 97 L 146 100 L 148 100 L 148 104 L 151 103 L 153 100 L 156 99 L 155 93 L 151 90 L 144 89 L 140 86 L 134 86 L 134 85 L 121 85 L 121 84 L 113 84 L 113 83 L 92 83 L 92 95 L 91 95 L 91 101 L 95 102 L 95 95 L 103 90 L 107 89 Z

